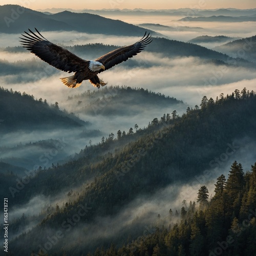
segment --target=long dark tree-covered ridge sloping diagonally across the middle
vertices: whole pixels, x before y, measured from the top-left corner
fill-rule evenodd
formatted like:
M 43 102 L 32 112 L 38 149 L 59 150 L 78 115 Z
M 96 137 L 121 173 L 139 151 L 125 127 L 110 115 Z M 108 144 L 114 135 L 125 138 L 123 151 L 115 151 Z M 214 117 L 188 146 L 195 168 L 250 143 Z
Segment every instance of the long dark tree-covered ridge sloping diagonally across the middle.
M 83 241 L 83 237 L 91 236 L 97 230 L 87 230 L 86 226 L 93 224 L 97 217 L 115 216 L 122 207 L 128 205 L 138 196 L 154 194 L 168 184 L 186 183 L 195 175 L 199 175 L 212 165 L 212 159 L 226 152 L 227 144 L 238 148 L 235 140 L 244 137 L 255 138 L 256 131 L 256 96 L 254 92 L 238 90 L 224 98 L 223 94 L 216 102 L 204 97 L 201 109 L 187 110 L 187 114 L 178 117 L 175 111 L 164 115 L 160 120 L 155 118 L 147 129 L 126 136 L 141 136 L 125 147 L 113 152 L 115 143 L 118 145 L 126 136 L 98 145 L 105 147 L 106 154 L 102 159 L 85 155 L 83 158 L 69 162 L 63 166 L 55 166 L 37 176 L 24 188 L 27 198 L 35 195 L 56 195 L 61 188 L 81 186 L 79 196 L 65 207 L 57 207 L 47 214 L 47 217 L 31 231 L 22 234 L 16 241 L 10 243 L 15 255 L 26 255 L 32 250 L 38 251 L 38 244 L 46 244 L 48 237 L 54 236 L 56 230 L 67 232 L 67 218 L 80 212 L 81 205 L 88 206 L 86 215 L 79 217 L 79 223 L 67 236 L 48 253 L 68 253 L 69 255 L 86 254 L 96 249 L 97 243 Z M 111 143 L 111 144 L 110 144 Z M 110 153 L 108 145 L 112 145 Z M 96 148 L 97 147 L 92 147 Z M 90 152 L 90 147 L 86 152 Z M 209 164 L 211 163 L 211 164 Z M 93 181 L 92 181 L 93 180 Z M 89 182 L 89 183 L 88 183 Z M 34 184 L 37 186 L 34 186 Z M 61 185 L 60 185 L 61 184 Z M 17 197 L 18 197 L 17 193 Z M 84 208 L 84 207 L 83 207 Z M 96 219 L 95 219 L 96 218 Z M 72 234 L 82 229 L 79 239 L 73 240 Z M 74 232 L 74 233 L 73 233 Z M 115 234 L 113 241 L 119 244 L 119 235 Z M 17 249 L 20 243 L 33 241 L 28 248 Z M 102 241 L 103 243 L 103 241 Z M 65 245 L 65 246 L 64 246 Z M 99 245 L 98 245 L 99 246 Z M 63 249 L 65 248 L 65 249 Z

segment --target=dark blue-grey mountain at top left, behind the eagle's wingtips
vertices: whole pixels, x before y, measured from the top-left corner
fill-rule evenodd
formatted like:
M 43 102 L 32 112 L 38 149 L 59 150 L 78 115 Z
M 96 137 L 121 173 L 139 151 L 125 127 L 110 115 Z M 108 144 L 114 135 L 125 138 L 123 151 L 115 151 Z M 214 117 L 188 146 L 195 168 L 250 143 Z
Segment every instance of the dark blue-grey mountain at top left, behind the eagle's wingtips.
M 31 28 L 36 27 L 39 31 L 75 30 L 94 34 L 133 36 L 145 33 L 145 30 L 138 26 L 90 13 L 63 11 L 47 15 L 18 5 L 4 5 L 0 6 L 0 16 L 3 17 L 0 20 L 2 33 L 22 33 L 28 24 L 32 24 Z M 148 32 L 157 35 L 154 31 Z

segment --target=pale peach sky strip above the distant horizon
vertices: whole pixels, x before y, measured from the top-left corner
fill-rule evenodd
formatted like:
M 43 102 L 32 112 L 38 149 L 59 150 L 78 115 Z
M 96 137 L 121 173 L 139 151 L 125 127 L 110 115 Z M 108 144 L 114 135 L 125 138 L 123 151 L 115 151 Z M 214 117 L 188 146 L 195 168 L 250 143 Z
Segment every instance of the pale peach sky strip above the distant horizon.
M 71 9 L 178 9 L 178 8 L 196 8 L 196 9 L 217 9 L 217 8 L 238 8 L 251 9 L 256 8 L 255 0 L 1 0 L 1 5 L 16 4 L 33 10 L 47 8 L 71 8 Z

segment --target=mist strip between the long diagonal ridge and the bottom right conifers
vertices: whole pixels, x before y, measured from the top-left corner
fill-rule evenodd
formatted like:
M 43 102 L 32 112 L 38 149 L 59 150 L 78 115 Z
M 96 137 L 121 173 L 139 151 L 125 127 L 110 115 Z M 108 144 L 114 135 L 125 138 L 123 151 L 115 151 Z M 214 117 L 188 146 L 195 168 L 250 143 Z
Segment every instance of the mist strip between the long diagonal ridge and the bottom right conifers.
M 65 234 L 63 248 L 66 249 L 69 248 L 70 244 L 79 243 L 78 238 L 81 236 L 84 239 L 84 246 L 90 247 L 92 244 L 102 244 L 105 241 L 111 241 L 116 245 L 122 246 L 123 242 L 126 242 L 125 238 L 128 234 L 136 233 L 140 239 L 143 239 L 148 234 L 154 233 L 156 227 L 168 228 L 169 225 L 173 226 L 180 221 L 179 218 L 174 216 L 176 210 L 180 215 L 181 207 L 184 206 L 187 209 L 190 201 L 192 203 L 196 202 L 196 207 L 198 208 L 197 193 L 201 186 L 207 186 L 209 200 L 211 200 L 215 194 L 214 184 L 216 184 L 217 178 L 222 174 L 228 178 L 230 166 L 234 160 L 242 164 L 245 173 L 251 169 L 250 165 L 255 161 L 256 157 L 253 151 L 256 141 L 244 137 L 240 140 L 230 141 L 227 146 L 231 144 L 236 145 L 237 150 L 228 156 L 226 160 L 221 160 L 221 163 L 215 168 L 212 168 L 209 162 L 209 168 L 202 170 L 190 180 L 186 182 L 174 180 L 173 184 L 152 190 L 150 195 L 138 195 L 133 201 L 120 208 L 115 215 L 95 216 L 94 221 L 86 223 L 86 225 L 79 225 L 80 223 L 78 223 L 71 230 L 65 230 L 60 226 L 57 230 L 48 230 L 48 233 L 51 235 L 61 230 Z M 219 158 L 220 156 L 216 157 Z M 129 176 L 130 174 L 127 173 L 125 175 Z M 35 203 L 37 198 L 38 202 Z M 57 201 L 56 198 L 35 197 L 28 203 L 27 207 L 29 209 L 33 206 L 35 209 L 39 209 L 44 204 L 44 201 L 49 204 L 51 202 L 51 204 L 57 203 L 60 205 L 61 201 Z M 183 200 L 185 200 L 185 204 L 183 204 Z M 88 207 L 90 210 L 90 203 Z M 169 215 L 170 209 L 173 211 L 171 219 Z M 21 213 L 22 210 L 23 208 L 16 209 L 16 213 Z M 118 238 L 116 237 L 117 233 Z

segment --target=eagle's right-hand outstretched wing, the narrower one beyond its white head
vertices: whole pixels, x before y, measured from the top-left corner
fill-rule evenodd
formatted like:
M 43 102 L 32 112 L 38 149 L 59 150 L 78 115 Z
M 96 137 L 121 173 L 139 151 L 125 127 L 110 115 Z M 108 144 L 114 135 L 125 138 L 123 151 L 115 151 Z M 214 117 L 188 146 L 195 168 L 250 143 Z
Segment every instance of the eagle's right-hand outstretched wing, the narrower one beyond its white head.
M 132 58 L 134 55 L 137 55 L 137 53 L 141 52 L 146 45 L 150 44 L 150 42 L 152 42 L 151 35 L 150 33 L 146 35 L 145 32 L 144 36 L 139 41 L 135 42 L 135 44 L 124 46 L 106 53 L 103 56 L 95 59 L 95 61 L 102 63 L 105 70 L 110 69 L 122 61 L 126 61 L 127 59 Z M 103 70 L 99 71 L 99 73 L 102 71 Z

